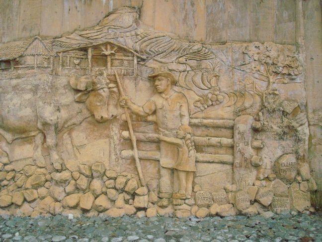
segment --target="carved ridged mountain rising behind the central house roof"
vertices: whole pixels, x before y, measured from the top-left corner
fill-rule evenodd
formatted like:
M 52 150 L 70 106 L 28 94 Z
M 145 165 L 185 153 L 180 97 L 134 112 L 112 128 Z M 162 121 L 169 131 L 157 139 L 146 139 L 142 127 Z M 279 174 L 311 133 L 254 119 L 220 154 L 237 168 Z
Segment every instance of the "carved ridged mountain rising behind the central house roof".
M 50 44 L 56 51 L 65 51 L 106 42 L 135 51 L 144 59 L 154 58 L 163 63 L 215 58 L 214 53 L 201 44 L 185 42 L 174 34 L 148 29 L 139 20 L 136 10 L 130 7 L 121 7 L 102 19 L 97 26 L 55 39 Z

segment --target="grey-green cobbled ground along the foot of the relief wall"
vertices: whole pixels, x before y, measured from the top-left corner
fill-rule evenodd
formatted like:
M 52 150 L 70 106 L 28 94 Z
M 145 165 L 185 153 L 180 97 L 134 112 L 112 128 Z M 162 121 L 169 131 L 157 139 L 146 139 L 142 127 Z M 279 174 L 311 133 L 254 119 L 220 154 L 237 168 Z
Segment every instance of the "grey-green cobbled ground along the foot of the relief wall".
M 0 217 L 2 242 L 322 242 L 322 213 L 270 218 Z

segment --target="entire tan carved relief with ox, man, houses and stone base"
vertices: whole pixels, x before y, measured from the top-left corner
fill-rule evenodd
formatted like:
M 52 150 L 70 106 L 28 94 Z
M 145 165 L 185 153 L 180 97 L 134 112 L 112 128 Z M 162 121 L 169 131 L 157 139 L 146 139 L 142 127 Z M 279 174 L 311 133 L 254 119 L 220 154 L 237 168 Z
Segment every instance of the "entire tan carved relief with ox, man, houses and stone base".
M 271 42 L 186 42 L 130 7 L 69 36 L 2 44 L 1 213 L 310 209 L 300 59 Z

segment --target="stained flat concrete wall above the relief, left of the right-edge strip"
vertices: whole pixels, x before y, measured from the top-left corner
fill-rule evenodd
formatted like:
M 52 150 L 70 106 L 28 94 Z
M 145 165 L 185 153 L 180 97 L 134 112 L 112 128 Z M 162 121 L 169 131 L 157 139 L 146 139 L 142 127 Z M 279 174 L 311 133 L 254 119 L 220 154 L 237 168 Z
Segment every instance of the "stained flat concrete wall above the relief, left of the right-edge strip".
M 147 25 L 189 41 L 294 44 L 296 4 L 297 0 L 0 0 L 0 40 L 60 36 L 96 25 L 109 11 L 131 5 L 141 7 L 141 20 Z

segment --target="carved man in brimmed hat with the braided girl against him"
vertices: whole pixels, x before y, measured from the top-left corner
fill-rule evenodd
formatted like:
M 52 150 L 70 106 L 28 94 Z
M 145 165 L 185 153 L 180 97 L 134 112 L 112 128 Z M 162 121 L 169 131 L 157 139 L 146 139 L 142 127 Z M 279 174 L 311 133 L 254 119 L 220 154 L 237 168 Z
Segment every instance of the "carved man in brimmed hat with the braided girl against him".
M 155 81 L 157 93 L 145 105 L 137 106 L 128 97 L 122 98 L 120 105 L 142 117 L 156 115 L 161 151 L 159 197 L 190 198 L 196 168 L 194 143 L 188 126 L 188 101 L 182 93 L 173 90 L 176 78 L 166 68 L 156 69 L 149 78 Z

